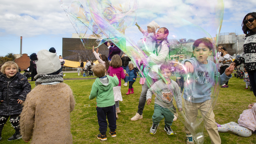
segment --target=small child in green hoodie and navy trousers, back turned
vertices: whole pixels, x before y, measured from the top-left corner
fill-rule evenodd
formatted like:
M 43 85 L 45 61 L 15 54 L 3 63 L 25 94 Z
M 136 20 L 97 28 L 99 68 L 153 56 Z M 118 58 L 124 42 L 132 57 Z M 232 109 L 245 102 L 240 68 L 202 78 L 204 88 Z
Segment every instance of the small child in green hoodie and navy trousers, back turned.
M 116 107 L 113 88 L 118 85 L 118 78 L 116 74 L 112 74 L 113 77 L 105 75 L 106 69 L 103 64 L 93 66 L 92 71 L 98 78 L 96 78 L 92 85 L 89 99 L 92 100 L 96 97 L 97 117 L 100 126 L 100 134 L 98 135 L 98 139 L 105 141 L 107 140 L 107 126 L 110 129 L 109 134 L 111 137 L 116 137 Z M 109 125 L 106 121 L 106 116 L 108 118 Z

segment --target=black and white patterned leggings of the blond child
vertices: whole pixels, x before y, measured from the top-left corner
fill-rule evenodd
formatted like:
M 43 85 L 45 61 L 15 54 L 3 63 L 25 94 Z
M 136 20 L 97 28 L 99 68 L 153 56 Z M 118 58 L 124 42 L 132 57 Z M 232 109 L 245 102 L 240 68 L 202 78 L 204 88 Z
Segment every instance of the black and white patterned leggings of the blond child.
M 2 130 L 4 128 L 4 124 L 7 122 L 8 118 L 10 117 L 11 125 L 14 127 L 17 133 L 20 133 L 20 114 L 10 115 L 10 116 L 2 116 L 0 115 L 0 137 L 2 134 Z

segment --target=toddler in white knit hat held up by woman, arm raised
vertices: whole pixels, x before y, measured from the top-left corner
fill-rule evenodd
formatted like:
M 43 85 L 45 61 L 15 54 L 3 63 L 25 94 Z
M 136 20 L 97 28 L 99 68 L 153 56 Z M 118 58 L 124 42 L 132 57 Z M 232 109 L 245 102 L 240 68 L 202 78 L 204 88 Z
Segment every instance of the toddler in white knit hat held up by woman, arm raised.
M 155 45 L 156 45 L 156 30 L 160 28 L 160 26 L 155 22 L 152 21 L 148 24 L 147 30 L 143 30 L 136 22 L 135 24 L 139 30 L 143 33 L 143 38 L 140 39 L 137 44 L 141 50 L 144 52 L 152 54 L 153 51 L 155 50 Z

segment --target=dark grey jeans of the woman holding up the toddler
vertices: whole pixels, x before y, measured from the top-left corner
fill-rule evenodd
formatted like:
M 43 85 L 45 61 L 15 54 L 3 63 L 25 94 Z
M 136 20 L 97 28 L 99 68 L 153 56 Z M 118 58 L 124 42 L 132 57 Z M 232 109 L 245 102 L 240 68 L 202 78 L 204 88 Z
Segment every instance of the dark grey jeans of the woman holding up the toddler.
M 140 100 L 139 100 L 139 105 L 138 105 L 138 112 L 140 115 L 142 115 L 143 113 L 143 109 L 144 109 L 144 106 L 146 104 L 146 95 L 147 95 L 147 91 L 148 91 L 148 85 L 147 84 L 154 84 L 156 81 L 159 81 L 161 80 L 161 78 L 159 79 L 152 79 L 151 77 L 147 76 L 146 78 L 146 83 L 143 85 L 143 89 L 141 91 L 141 94 L 140 94 Z

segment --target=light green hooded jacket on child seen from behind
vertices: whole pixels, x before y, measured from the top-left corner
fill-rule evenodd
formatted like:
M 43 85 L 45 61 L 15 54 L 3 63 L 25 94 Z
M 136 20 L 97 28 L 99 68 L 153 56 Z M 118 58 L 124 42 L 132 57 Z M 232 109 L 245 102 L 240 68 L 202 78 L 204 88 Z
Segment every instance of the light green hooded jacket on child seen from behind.
M 115 104 L 113 87 L 118 86 L 119 81 L 116 76 L 106 76 L 108 78 L 107 85 L 102 84 L 99 78 L 96 78 L 92 84 L 89 99 L 92 100 L 96 97 L 97 107 L 108 107 Z

